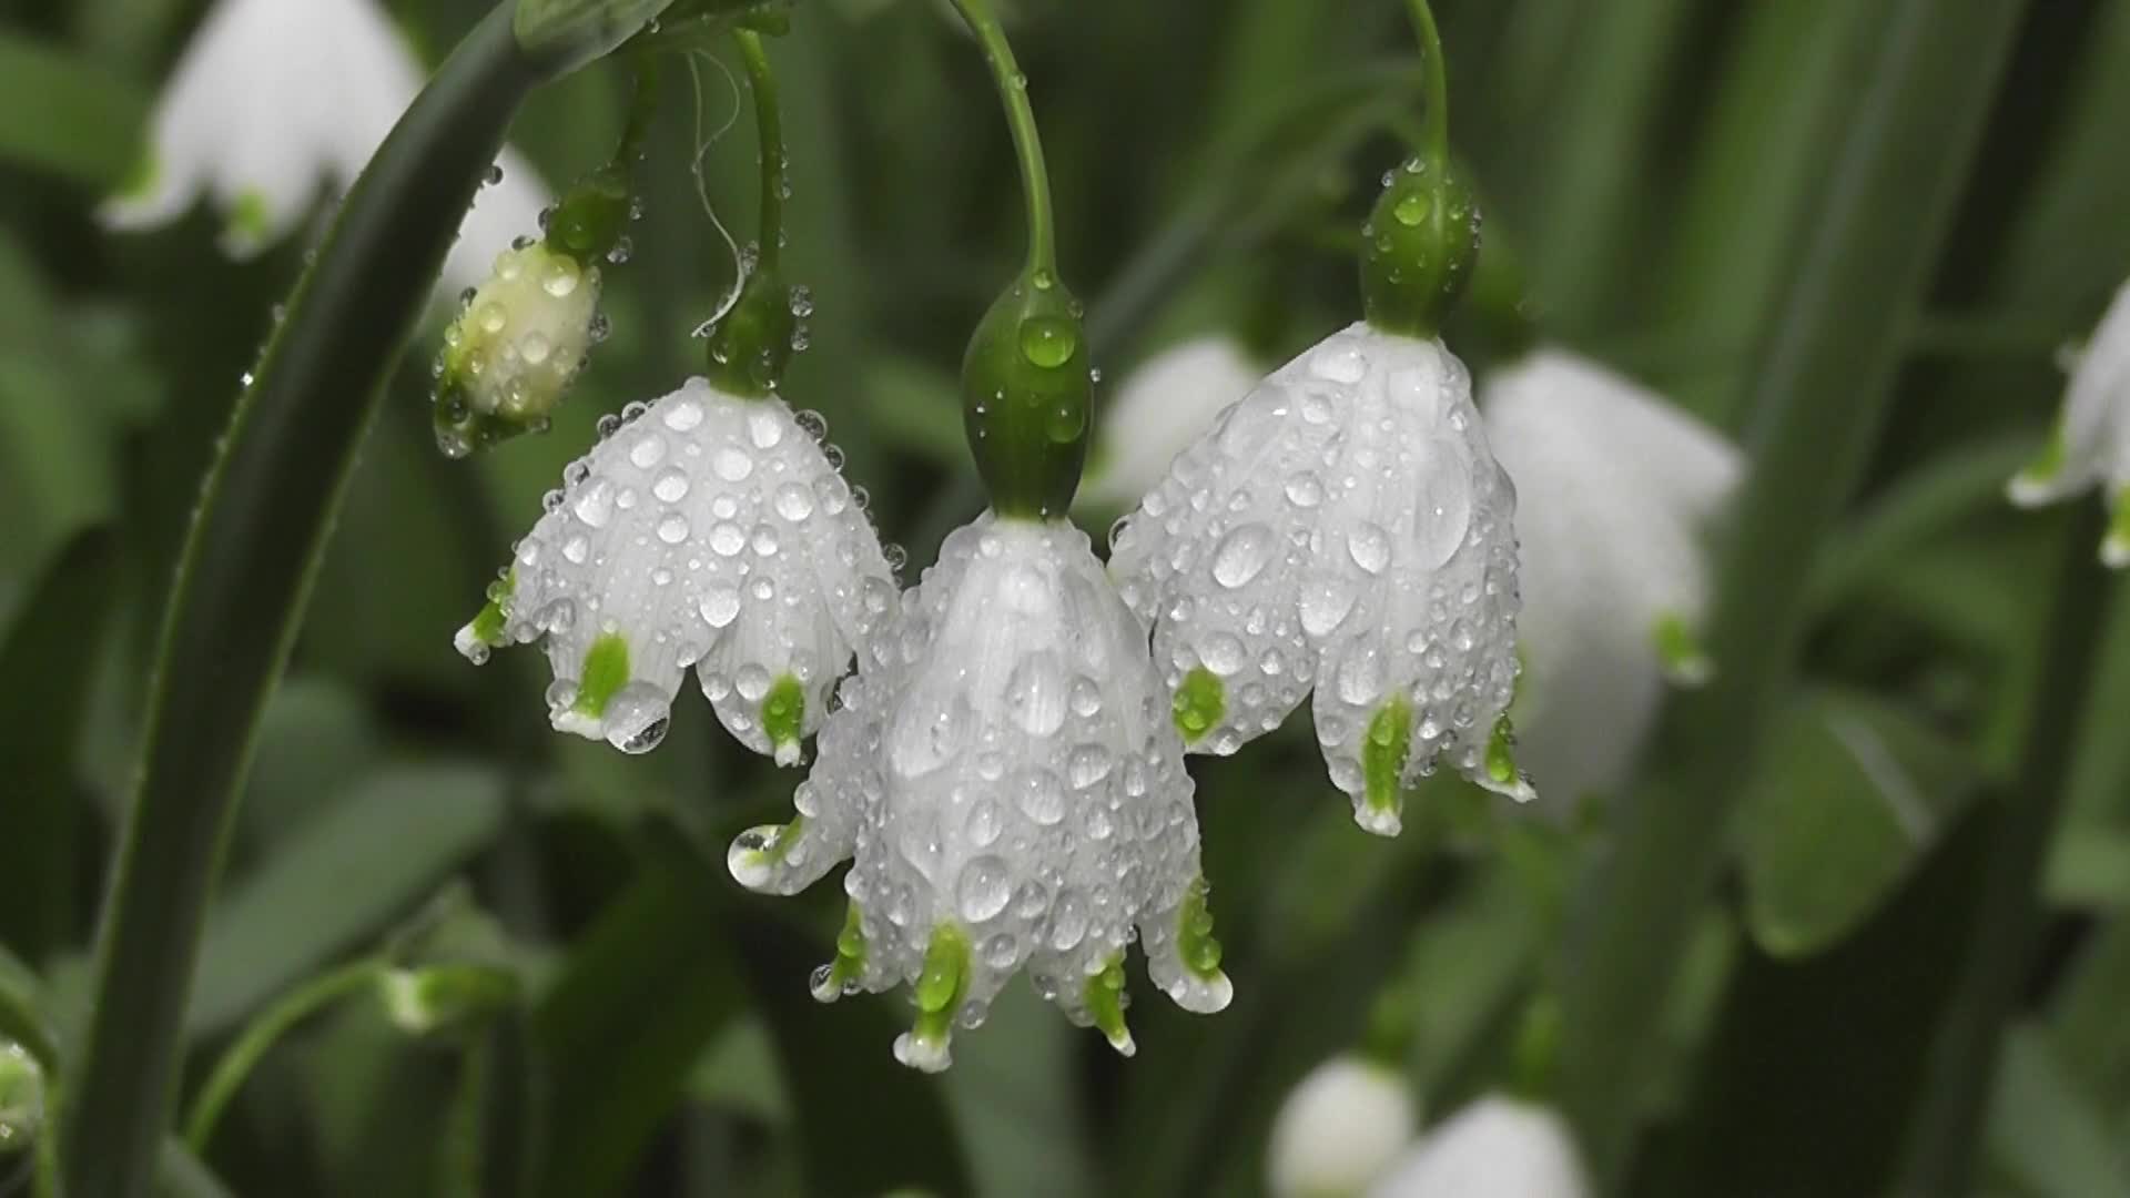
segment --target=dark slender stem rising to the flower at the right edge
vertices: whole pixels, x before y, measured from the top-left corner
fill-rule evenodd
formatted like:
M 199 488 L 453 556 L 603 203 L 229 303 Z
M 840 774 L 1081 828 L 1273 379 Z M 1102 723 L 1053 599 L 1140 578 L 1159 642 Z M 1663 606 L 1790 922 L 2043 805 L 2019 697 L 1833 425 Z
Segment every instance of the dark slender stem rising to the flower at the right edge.
M 2098 671 L 2096 646 L 2113 610 L 2109 573 L 2094 561 L 2100 505 L 2079 503 L 2077 509 L 2064 539 L 2055 603 L 2043 625 L 2045 650 L 2019 755 L 2019 787 L 2000 791 L 2000 802 L 2011 806 L 1998 819 L 1977 902 L 1981 914 L 1919 1087 L 1923 1100 L 1908 1132 L 1900 1194 L 1970 1189 L 1998 1045 L 2019 1008 L 2041 944 L 2047 919 L 2041 874 L 2070 791 L 2083 727 L 2079 716 L 2087 710 Z

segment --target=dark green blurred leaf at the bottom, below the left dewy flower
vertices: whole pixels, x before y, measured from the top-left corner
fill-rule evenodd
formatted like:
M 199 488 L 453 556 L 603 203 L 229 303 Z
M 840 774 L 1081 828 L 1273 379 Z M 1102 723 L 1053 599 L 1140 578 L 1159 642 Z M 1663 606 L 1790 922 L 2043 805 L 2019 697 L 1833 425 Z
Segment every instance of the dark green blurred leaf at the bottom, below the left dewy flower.
M 577 942 L 532 1030 L 554 1130 L 539 1194 L 613 1194 L 741 1004 L 711 865 L 665 829 Z

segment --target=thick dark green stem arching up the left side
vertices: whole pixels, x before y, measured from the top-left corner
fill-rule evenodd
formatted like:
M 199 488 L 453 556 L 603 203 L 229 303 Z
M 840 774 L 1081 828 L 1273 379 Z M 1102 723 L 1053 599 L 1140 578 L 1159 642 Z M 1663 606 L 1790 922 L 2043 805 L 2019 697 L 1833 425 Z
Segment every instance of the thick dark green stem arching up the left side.
M 356 181 L 236 401 L 179 558 L 134 795 L 70 1059 L 75 1198 L 141 1198 L 155 1175 L 207 897 L 381 382 L 422 315 L 460 215 L 524 96 L 567 62 L 528 58 L 498 4 Z

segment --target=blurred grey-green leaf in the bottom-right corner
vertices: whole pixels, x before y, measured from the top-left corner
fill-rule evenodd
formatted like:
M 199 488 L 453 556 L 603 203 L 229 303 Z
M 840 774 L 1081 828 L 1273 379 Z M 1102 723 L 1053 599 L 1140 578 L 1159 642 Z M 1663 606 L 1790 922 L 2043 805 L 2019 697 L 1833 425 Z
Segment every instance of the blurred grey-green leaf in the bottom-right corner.
M 2079 1094 L 2058 1045 L 2032 1023 L 2004 1036 L 1983 1151 L 2034 1198 L 2126 1198 L 2124 1140 Z

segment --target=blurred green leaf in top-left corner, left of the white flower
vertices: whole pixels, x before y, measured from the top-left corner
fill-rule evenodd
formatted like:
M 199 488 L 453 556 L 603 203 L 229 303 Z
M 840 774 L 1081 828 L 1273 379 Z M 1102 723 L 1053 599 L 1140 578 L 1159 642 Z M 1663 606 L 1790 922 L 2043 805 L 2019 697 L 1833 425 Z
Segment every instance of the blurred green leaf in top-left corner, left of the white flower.
M 132 83 L 0 32 L 0 160 L 109 190 L 134 173 L 145 117 Z

